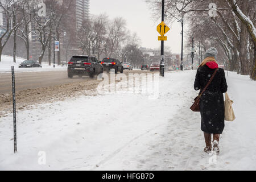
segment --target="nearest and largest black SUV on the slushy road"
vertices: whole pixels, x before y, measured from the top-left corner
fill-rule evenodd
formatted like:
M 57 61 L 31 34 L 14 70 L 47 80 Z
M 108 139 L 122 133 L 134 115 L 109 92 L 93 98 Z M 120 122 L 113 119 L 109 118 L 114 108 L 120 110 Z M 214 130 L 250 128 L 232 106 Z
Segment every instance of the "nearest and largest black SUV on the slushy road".
M 95 74 L 103 73 L 100 61 L 94 56 L 72 56 L 68 62 L 68 77 L 74 75 L 82 77 L 84 75 L 94 77 Z

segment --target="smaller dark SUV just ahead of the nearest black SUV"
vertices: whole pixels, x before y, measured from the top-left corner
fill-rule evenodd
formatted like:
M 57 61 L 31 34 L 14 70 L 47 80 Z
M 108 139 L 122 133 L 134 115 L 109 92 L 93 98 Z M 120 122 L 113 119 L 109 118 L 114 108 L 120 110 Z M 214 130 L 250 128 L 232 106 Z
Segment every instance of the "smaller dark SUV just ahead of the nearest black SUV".
M 118 59 L 106 57 L 102 60 L 101 64 L 106 72 L 109 72 L 110 69 L 115 69 L 115 74 L 117 74 L 117 72 L 123 73 L 123 64 Z

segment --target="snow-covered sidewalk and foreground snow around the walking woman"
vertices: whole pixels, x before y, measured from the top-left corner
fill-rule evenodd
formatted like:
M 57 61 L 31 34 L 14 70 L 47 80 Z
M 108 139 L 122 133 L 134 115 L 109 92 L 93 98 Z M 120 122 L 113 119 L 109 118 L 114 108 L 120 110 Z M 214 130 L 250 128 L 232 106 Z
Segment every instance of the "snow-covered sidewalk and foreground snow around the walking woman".
M 0 169 L 255 170 L 256 82 L 230 73 L 228 93 L 237 119 L 226 122 L 221 154 L 213 159 L 203 152 L 200 113 L 189 110 L 197 94 L 195 73 L 160 77 L 156 100 L 114 93 L 20 111 L 17 154 L 12 115 L 0 118 Z M 46 154 L 46 165 L 39 165 L 38 154 Z

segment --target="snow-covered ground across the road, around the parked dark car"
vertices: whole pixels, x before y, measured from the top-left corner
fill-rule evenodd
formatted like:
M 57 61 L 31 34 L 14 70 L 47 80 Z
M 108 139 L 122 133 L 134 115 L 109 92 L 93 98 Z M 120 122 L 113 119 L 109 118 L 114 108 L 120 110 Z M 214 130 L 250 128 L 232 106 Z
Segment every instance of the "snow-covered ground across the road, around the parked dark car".
M 2 55 L 2 61 L 0 62 L 0 73 L 2 72 L 11 72 L 11 66 L 14 66 L 15 72 L 42 72 L 42 71 L 63 71 L 67 67 L 61 67 L 55 65 L 55 68 L 49 66 L 47 63 L 42 63 L 42 68 L 19 68 L 19 64 L 22 63 L 23 58 L 16 57 L 16 63 L 13 62 L 13 56 Z

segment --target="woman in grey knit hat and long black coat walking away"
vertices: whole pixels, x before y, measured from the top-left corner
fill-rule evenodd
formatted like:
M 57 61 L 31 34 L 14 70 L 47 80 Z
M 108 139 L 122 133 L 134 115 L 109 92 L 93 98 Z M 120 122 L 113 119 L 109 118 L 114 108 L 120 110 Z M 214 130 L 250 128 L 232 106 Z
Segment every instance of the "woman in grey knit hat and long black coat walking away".
M 201 113 L 201 130 L 204 132 L 204 139 L 206 147 L 204 151 L 212 152 L 212 134 L 213 134 L 213 151 L 219 154 L 218 142 L 220 134 L 224 130 L 224 98 L 223 93 L 228 89 L 226 84 L 224 69 L 218 68 L 216 62 L 217 49 L 209 48 L 204 55 L 204 60 L 200 64 L 196 73 L 196 80 L 194 84 L 195 90 L 202 90 L 207 85 L 210 77 L 217 69 L 216 75 L 212 82 L 205 90 L 200 98 L 200 113 Z

